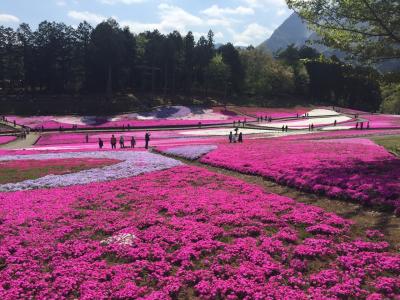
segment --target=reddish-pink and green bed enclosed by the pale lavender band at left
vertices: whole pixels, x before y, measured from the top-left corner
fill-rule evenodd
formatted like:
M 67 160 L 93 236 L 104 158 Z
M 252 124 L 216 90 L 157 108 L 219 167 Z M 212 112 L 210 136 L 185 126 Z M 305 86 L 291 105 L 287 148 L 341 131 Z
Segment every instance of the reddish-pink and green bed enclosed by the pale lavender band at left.
M 62 175 L 118 163 L 116 159 L 47 159 L 0 161 L 0 184 L 32 180 L 45 175 Z

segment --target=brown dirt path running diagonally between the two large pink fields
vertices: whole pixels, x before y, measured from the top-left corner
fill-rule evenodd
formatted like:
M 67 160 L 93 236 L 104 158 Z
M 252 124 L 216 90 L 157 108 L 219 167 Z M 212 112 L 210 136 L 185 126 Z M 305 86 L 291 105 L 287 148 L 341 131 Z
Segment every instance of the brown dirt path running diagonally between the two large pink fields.
M 365 230 L 367 229 L 378 229 L 385 234 L 386 240 L 390 242 L 393 250 L 400 251 L 400 218 L 396 217 L 394 214 L 375 211 L 357 203 L 302 192 L 291 187 L 279 185 L 261 176 L 246 175 L 202 164 L 198 161 L 190 161 L 177 157 L 173 158 L 188 165 L 194 165 L 215 173 L 239 178 L 248 183 L 263 187 L 266 192 L 292 198 L 302 203 L 315 205 L 323 208 L 325 211 L 333 212 L 343 218 L 350 219 L 354 221 L 354 226 L 351 231 L 354 238 L 365 236 Z

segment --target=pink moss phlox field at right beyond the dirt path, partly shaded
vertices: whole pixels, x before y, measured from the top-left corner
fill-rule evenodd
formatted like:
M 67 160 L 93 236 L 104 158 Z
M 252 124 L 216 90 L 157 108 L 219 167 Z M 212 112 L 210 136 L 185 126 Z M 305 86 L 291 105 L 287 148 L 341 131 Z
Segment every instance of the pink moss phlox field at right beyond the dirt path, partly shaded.
M 374 144 L 259 139 L 221 144 L 200 161 L 400 213 L 400 159 Z

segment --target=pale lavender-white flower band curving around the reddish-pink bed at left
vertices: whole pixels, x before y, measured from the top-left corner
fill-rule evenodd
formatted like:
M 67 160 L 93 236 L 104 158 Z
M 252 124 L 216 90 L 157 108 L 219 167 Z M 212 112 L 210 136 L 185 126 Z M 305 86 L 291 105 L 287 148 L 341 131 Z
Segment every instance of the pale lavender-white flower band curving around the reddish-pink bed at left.
M 9 160 L 48 160 L 48 159 L 84 159 L 84 158 L 108 158 L 122 160 L 120 163 L 83 170 L 77 173 L 63 175 L 47 175 L 38 179 L 25 180 L 17 183 L 0 185 L 0 192 L 12 192 L 39 188 L 53 188 L 59 186 L 70 186 L 77 184 L 88 184 L 92 182 L 109 181 L 132 177 L 144 173 L 169 169 L 182 165 L 180 161 L 164 157 L 158 154 L 139 151 L 126 152 L 69 152 L 69 153 L 47 153 L 32 155 L 6 155 L 0 156 L 0 161 Z

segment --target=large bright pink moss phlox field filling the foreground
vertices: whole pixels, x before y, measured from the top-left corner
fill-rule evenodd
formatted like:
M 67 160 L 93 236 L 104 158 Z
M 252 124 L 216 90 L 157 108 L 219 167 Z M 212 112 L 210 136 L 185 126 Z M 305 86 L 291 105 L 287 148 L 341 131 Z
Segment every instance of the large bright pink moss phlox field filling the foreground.
M 189 166 L 0 193 L 0 298 L 398 297 L 400 256 L 351 225 Z

